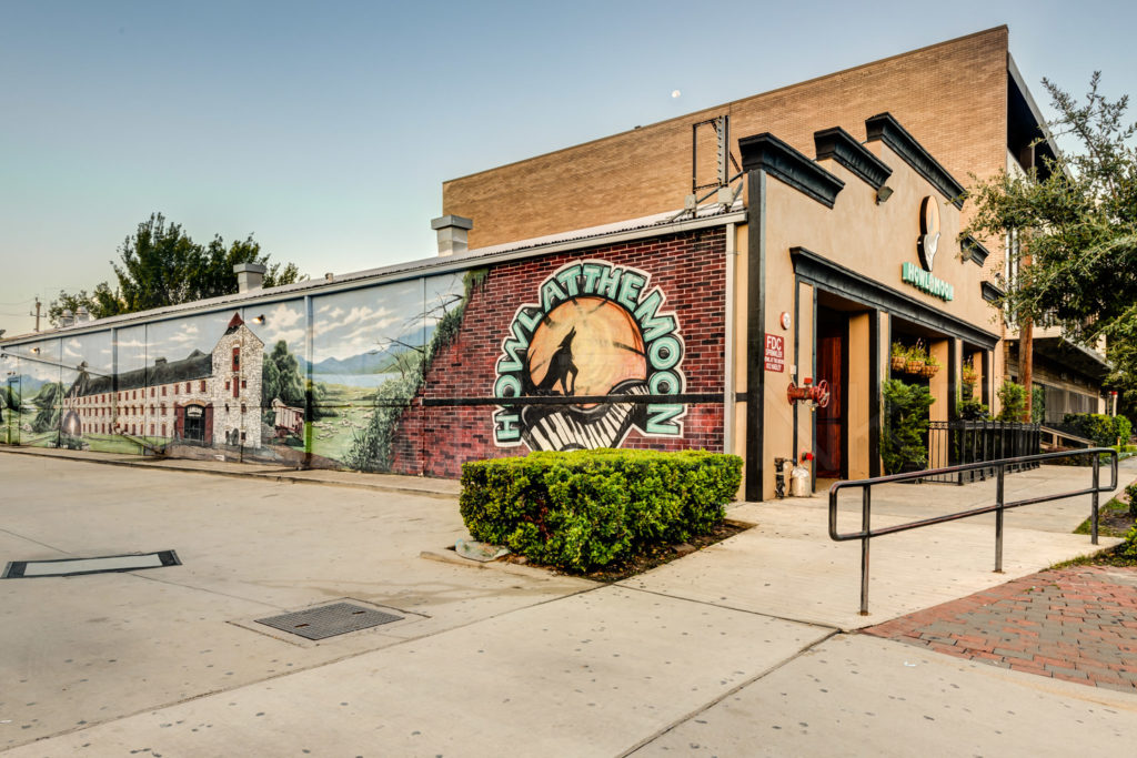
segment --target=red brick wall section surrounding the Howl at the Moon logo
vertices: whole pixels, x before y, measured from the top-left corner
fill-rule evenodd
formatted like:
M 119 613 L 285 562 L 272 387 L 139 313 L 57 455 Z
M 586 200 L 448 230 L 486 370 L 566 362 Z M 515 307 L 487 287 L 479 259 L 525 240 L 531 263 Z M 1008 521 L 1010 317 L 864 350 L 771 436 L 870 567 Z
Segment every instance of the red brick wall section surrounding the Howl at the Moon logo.
M 664 238 L 554 253 L 490 268 L 471 294 L 458 336 L 438 350 L 426 381 L 399 424 L 392 470 L 456 477 L 466 460 L 525 455 L 529 448 L 499 448 L 493 441 L 496 406 L 424 407 L 423 398 L 490 398 L 501 340 L 517 307 L 538 301 L 541 283 L 562 266 L 601 259 L 650 275 L 645 292 L 658 286 L 683 339 L 688 393 L 722 393 L 725 302 L 725 233 L 700 230 Z M 682 438 L 648 438 L 632 430 L 625 448 L 722 450 L 722 405 L 688 405 Z

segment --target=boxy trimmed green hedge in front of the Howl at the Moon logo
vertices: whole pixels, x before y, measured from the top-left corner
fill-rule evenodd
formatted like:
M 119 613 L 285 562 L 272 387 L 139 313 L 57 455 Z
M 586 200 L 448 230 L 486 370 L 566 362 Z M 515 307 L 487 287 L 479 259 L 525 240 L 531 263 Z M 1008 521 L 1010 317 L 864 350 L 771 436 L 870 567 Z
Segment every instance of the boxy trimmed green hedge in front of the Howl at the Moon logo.
M 583 572 L 722 523 L 742 476 L 738 456 L 578 450 L 462 466 L 470 535 Z

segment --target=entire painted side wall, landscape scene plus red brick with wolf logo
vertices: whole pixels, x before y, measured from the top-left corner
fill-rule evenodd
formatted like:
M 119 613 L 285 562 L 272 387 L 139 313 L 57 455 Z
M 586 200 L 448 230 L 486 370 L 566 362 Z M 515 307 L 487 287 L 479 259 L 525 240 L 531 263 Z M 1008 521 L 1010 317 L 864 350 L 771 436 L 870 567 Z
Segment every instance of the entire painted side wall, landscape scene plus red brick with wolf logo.
M 723 250 L 698 231 L 7 344 L 0 443 L 434 476 L 721 450 Z

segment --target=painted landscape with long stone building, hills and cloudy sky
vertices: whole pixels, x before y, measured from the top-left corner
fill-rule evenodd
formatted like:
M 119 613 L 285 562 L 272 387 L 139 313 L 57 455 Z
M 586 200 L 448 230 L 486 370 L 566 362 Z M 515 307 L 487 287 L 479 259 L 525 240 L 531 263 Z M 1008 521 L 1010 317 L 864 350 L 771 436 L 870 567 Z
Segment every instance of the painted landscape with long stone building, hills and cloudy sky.
M 9 344 L 0 443 L 389 470 L 470 275 Z

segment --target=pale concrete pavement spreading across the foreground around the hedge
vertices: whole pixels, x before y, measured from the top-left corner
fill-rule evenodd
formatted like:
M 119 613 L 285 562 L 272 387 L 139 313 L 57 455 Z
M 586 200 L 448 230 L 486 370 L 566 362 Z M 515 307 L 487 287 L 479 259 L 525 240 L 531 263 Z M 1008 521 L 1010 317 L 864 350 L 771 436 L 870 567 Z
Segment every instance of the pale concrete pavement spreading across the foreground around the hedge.
M 1047 755 L 1074 724 L 1090 750 L 1137 728 L 1137 695 L 840 633 L 1089 550 L 1061 531 L 1085 502 L 1009 516 L 1004 576 L 984 519 L 875 541 L 864 619 L 858 548 L 829 541 L 822 499 L 738 506 L 756 528 L 597 585 L 422 560 L 464 535 L 439 493 L 149 466 L 0 456 L 0 561 L 159 548 L 184 561 L 0 583 L 13 756 Z M 1085 472 L 1028 474 L 1009 493 Z M 910 486 L 875 513 L 987 494 Z M 405 620 L 321 643 L 252 623 L 341 598 Z

